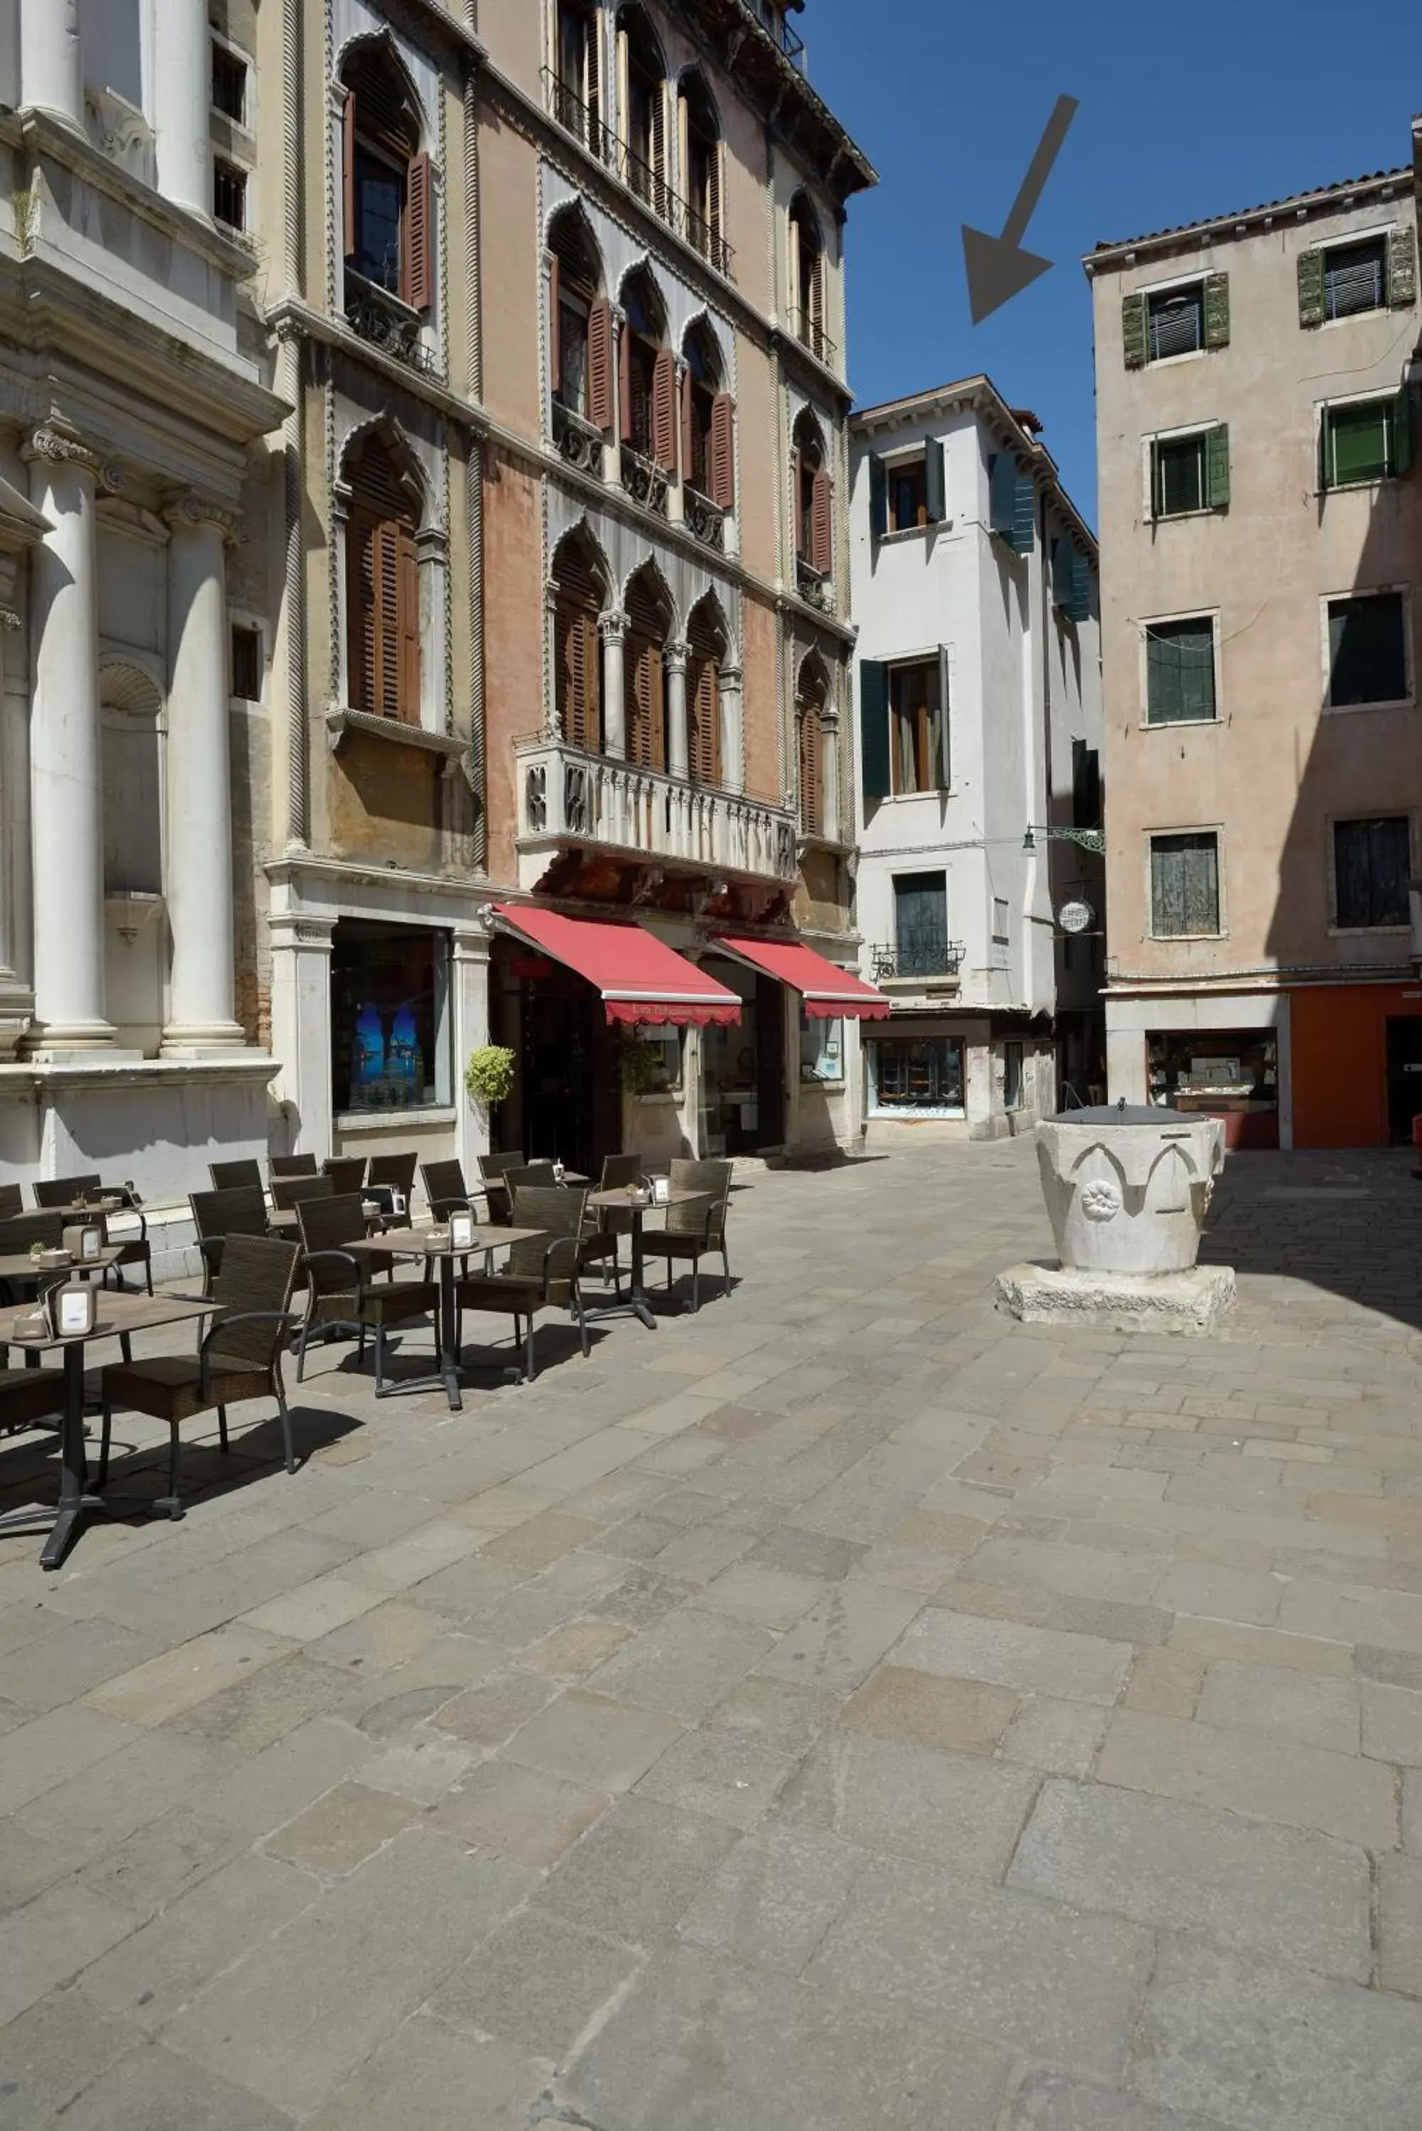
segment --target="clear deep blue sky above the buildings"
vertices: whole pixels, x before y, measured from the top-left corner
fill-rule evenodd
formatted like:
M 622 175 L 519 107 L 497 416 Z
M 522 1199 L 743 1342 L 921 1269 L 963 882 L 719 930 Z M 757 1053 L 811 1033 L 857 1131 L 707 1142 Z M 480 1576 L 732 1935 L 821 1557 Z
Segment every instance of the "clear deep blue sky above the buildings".
M 880 175 L 849 209 L 857 401 L 987 371 L 1043 418 L 1092 524 L 1081 254 L 1405 164 L 1422 111 L 1416 0 L 806 0 L 791 19 Z M 1002 228 L 1060 94 L 1081 109 L 1025 239 L 1057 264 L 972 326 L 959 224 Z

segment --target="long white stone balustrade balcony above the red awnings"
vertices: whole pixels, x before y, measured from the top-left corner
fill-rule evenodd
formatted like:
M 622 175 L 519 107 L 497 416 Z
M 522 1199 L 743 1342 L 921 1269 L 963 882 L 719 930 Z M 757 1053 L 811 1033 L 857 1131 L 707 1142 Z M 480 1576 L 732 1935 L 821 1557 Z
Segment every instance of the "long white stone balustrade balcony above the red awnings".
M 665 769 L 588 754 L 561 735 L 518 742 L 518 880 L 535 889 L 565 852 L 620 857 L 635 869 L 742 880 L 789 891 L 795 814 Z

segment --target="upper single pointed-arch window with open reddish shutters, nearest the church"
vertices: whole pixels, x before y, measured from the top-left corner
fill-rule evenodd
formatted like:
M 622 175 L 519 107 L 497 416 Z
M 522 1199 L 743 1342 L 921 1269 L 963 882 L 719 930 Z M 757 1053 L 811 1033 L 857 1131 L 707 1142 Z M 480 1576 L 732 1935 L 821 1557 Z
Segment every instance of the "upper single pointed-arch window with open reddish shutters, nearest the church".
M 360 49 L 341 102 L 345 264 L 414 311 L 435 300 L 435 202 L 420 113 L 394 60 Z

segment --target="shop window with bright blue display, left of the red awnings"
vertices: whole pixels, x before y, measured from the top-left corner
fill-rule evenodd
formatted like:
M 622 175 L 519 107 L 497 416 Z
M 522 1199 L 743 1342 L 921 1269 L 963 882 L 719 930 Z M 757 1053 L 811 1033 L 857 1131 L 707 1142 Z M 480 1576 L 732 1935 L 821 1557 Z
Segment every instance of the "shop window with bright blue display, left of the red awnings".
M 330 942 L 330 1042 L 337 1112 L 448 1104 L 450 936 L 341 918 Z

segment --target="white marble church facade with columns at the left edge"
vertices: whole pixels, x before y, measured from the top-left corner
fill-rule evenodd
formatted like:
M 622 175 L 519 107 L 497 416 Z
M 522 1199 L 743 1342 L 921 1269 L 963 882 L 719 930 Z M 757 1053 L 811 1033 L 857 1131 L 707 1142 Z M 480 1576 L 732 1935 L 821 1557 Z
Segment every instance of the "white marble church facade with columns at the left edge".
M 235 999 L 228 658 L 286 409 L 209 96 L 207 0 L 0 0 L 0 1174 L 158 1200 L 264 1151 L 275 1070 Z

